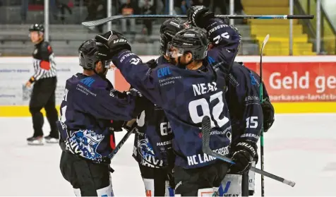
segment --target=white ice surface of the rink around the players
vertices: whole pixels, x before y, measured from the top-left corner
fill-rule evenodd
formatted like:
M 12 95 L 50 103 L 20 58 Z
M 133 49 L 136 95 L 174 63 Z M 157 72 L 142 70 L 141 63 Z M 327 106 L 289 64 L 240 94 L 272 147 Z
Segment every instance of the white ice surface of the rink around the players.
M 277 115 L 265 133 L 265 170 L 296 181 L 294 188 L 265 177 L 266 196 L 336 196 L 336 114 Z M 0 196 L 74 196 L 59 171 L 58 144 L 27 145 L 30 118 L 1 118 Z M 47 120 L 44 134 L 49 134 Z M 117 142 L 124 132 L 116 133 Z M 114 157 L 116 196 L 145 196 L 133 157 L 133 135 Z M 260 167 L 257 165 L 257 167 Z M 256 176 L 260 196 L 260 176 Z

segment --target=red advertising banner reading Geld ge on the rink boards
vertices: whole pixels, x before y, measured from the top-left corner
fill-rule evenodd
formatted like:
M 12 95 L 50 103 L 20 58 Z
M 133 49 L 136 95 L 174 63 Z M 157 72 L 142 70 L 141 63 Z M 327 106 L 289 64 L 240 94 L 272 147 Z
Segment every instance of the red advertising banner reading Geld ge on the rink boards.
M 259 63 L 244 64 L 260 73 Z M 115 80 L 118 90 L 129 88 L 118 70 Z M 336 62 L 265 62 L 263 83 L 272 102 L 336 102 Z

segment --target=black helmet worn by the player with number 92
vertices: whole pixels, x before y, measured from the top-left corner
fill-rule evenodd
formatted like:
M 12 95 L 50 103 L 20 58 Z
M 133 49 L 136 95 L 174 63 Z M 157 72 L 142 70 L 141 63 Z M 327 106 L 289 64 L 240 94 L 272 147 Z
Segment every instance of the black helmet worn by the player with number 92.
M 171 56 L 176 58 L 186 52 L 193 54 L 193 61 L 205 59 L 208 52 L 209 40 L 206 33 L 200 28 L 188 28 L 176 33 L 169 46 L 174 47 Z

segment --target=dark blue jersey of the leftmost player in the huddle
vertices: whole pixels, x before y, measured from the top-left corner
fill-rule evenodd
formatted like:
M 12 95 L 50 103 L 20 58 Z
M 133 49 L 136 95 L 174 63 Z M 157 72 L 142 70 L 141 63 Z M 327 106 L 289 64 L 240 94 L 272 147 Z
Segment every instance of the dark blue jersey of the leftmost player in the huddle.
M 119 94 L 109 80 L 77 73 L 66 80 L 61 119 L 61 141 L 66 150 L 94 162 L 105 160 L 115 147 L 114 129 L 133 117 L 133 95 Z

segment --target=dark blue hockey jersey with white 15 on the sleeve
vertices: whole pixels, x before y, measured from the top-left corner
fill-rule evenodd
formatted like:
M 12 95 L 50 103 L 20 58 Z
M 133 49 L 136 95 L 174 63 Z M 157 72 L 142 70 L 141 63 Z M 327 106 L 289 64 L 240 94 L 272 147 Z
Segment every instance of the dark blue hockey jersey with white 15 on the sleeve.
M 232 121 L 232 145 L 239 141 L 257 143 L 263 126 L 260 77 L 242 63 L 234 62 L 229 73 L 227 103 Z M 264 97 L 268 93 L 263 86 Z

